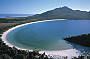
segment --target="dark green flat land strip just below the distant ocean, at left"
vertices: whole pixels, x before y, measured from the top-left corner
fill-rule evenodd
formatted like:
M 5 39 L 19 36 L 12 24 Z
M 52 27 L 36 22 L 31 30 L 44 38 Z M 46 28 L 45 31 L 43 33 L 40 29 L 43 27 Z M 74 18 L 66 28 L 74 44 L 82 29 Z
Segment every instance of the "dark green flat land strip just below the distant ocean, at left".
M 20 18 L 0 18 L 0 23 L 29 23 L 29 22 L 35 22 L 40 21 L 38 19 L 30 19 L 26 17 L 20 17 Z

